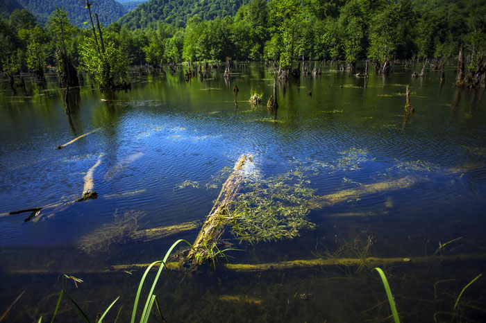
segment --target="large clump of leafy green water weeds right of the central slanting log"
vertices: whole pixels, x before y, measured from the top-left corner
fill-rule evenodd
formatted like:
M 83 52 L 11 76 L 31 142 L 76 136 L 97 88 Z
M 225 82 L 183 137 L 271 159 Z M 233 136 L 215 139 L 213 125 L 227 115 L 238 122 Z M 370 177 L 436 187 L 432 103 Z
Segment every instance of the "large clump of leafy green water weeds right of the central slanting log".
M 267 180 L 248 180 L 246 193 L 233 203 L 231 232 L 240 242 L 253 244 L 294 238 L 303 229 L 313 229 L 306 202 L 314 198 L 315 190 L 308 184 L 301 168 Z

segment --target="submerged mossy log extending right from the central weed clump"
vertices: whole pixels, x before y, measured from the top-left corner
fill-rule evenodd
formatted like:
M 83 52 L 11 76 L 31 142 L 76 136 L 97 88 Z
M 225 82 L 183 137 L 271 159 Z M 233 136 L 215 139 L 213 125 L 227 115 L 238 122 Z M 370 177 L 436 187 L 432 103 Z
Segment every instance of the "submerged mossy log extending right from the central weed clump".
M 397 189 L 406 189 L 412 186 L 416 181 L 417 180 L 414 177 L 403 177 L 399 180 L 389 180 L 374 184 L 361 185 L 355 189 L 346 189 L 344 191 L 323 195 L 319 198 L 310 200 L 308 202 L 308 208 L 321 209 L 322 207 L 330 207 L 339 202 L 344 202 L 362 195 L 376 194 L 384 191 L 394 191 Z

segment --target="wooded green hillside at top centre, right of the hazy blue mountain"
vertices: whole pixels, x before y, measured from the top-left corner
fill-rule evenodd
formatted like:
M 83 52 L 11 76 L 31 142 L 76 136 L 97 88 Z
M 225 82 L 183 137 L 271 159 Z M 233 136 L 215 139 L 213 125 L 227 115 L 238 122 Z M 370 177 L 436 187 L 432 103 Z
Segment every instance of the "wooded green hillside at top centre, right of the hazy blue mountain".
M 190 17 L 199 15 L 204 20 L 235 15 L 249 0 L 150 0 L 137 6 L 119 19 L 129 28 L 144 28 L 150 23 L 164 21 L 185 26 Z

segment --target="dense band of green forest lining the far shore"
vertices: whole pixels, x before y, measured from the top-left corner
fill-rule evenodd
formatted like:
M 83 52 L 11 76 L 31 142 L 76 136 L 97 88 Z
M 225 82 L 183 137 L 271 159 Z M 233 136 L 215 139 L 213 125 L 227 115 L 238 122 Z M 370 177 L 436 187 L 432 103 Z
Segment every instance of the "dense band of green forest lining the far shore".
M 160 12 L 176 12 L 170 3 L 185 0 L 151 0 L 134 15 L 157 3 L 167 3 L 157 7 Z M 2 70 L 13 82 L 11 76 L 19 71 L 40 75 L 47 64 L 58 66 L 69 59 L 78 70 L 104 74 L 112 83 L 113 73 L 126 70 L 128 64 L 160 67 L 168 62 L 221 62 L 231 57 L 275 60 L 283 69 L 302 58 L 345 60 L 351 67 L 366 59 L 386 67 L 394 60 L 457 58 L 463 45 L 467 68 L 473 71 L 480 54 L 486 52 L 486 0 L 251 0 L 237 8 L 234 17 L 226 14 L 237 1 L 199 3 L 219 10 L 193 15 L 185 27 L 179 24 L 192 14 L 162 16 L 174 19 L 173 24 L 160 20 L 149 24 L 128 15 L 103 28 L 83 9 L 88 24 L 79 29 L 68 21 L 71 15 L 59 18 L 62 10 L 56 10 L 58 18 L 51 15 L 45 27 L 28 10 L 14 10 L 8 19 L 0 19 Z M 101 12 L 99 16 L 102 21 Z M 149 27 L 134 29 L 133 24 Z

